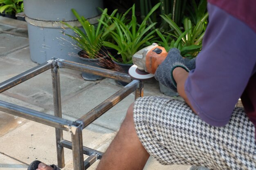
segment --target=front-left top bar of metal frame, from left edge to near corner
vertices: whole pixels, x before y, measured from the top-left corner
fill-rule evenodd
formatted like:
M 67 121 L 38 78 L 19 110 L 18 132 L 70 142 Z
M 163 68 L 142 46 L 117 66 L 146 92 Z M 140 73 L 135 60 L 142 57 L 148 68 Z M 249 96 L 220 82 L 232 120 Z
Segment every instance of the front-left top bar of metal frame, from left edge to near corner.
M 38 112 L 29 108 L 18 106 L 0 100 L 0 110 L 12 115 L 23 117 L 25 119 L 33 120 L 41 124 L 49 125 L 54 128 L 70 131 L 71 125 L 76 125 L 76 122 L 48 115 L 46 113 Z

